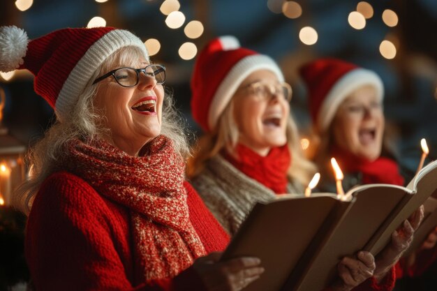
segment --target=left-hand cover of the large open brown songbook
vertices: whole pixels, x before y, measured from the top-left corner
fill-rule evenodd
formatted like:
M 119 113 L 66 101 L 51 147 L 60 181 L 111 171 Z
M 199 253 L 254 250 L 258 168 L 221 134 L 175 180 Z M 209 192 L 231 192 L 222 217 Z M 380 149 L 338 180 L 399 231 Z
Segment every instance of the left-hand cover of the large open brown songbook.
M 242 255 L 260 258 L 265 272 L 244 290 L 280 290 L 316 234 L 335 223 L 331 218 L 339 216 L 339 205 L 349 203 L 312 196 L 255 204 L 222 260 Z

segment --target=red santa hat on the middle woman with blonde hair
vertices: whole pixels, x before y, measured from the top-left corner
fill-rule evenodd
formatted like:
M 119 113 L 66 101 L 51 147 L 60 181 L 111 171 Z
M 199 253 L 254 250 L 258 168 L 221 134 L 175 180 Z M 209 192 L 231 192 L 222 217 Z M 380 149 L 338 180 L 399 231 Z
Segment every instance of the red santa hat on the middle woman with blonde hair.
M 215 38 L 203 48 L 191 78 L 191 113 L 205 132 L 214 130 L 239 85 L 255 70 L 271 70 L 284 80 L 273 59 L 240 47 L 234 36 Z

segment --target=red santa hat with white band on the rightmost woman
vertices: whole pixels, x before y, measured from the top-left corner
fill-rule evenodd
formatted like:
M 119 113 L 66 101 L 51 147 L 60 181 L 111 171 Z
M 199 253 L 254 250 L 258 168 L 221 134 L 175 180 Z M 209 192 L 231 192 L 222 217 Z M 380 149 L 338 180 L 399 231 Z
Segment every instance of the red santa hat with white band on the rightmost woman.
M 380 77 L 346 61 L 317 59 L 302 66 L 299 73 L 308 89 L 309 111 L 318 133 L 329 128 L 339 105 L 359 87 L 373 86 L 378 99 L 383 100 L 384 87 Z

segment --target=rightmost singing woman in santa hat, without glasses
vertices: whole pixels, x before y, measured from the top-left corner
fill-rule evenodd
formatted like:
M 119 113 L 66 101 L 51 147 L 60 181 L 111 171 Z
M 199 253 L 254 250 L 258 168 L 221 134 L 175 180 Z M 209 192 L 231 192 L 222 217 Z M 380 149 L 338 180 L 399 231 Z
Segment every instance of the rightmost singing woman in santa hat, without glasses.
M 320 168 L 321 192 L 336 193 L 330 158 L 336 158 L 344 174 L 345 191 L 360 184 L 403 185 L 403 177 L 390 151 L 384 147 L 383 82 L 371 70 L 340 59 L 316 59 L 299 71 L 308 89 L 309 109 L 316 135 L 314 161 Z M 413 232 L 423 218 L 422 207 L 392 236 L 392 243 L 376 257 L 376 270 L 394 265 L 408 248 Z M 436 243 L 435 235 L 430 236 Z M 420 274 L 434 259 L 420 264 L 396 264 L 397 278 Z

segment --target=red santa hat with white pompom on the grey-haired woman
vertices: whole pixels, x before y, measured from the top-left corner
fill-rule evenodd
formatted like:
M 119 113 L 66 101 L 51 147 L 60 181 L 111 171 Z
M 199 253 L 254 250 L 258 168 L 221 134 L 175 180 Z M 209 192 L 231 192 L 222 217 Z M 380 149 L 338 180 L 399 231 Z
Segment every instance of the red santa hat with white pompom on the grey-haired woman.
M 60 29 L 34 40 L 17 27 L 0 27 L 0 71 L 30 70 L 35 75 L 36 93 L 62 121 L 98 66 L 126 46 L 139 47 L 149 59 L 140 38 L 113 27 Z

